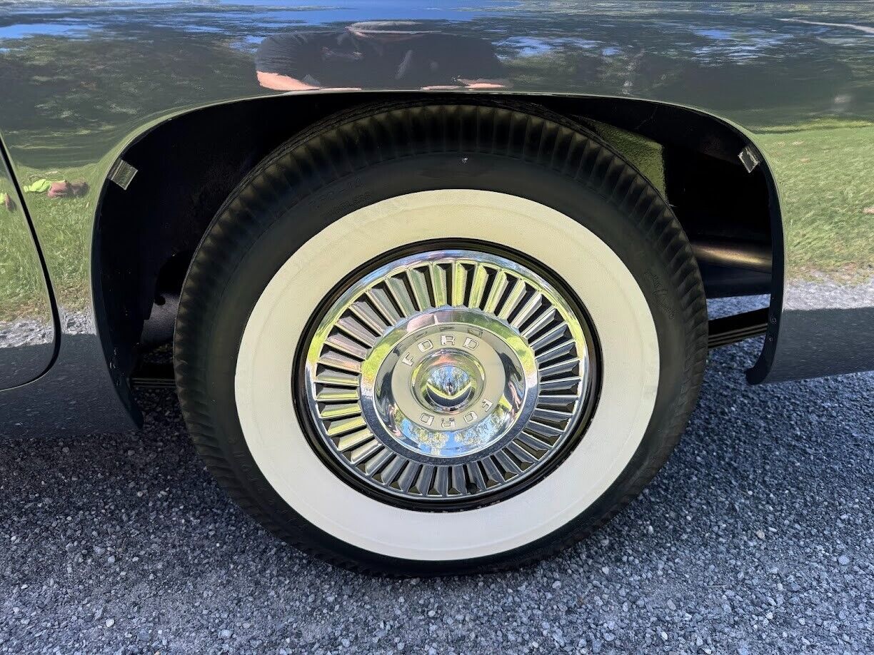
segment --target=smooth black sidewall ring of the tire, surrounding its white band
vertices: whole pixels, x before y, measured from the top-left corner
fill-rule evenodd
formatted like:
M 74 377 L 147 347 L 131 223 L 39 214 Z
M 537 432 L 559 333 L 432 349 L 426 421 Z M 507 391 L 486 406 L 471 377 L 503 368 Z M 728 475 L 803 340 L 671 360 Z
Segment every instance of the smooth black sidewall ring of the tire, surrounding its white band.
M 265 176 L 268 177 L 268 176 Z M 198 359 L 205 369 L 216 441 L 239 490 L 269 517 L 274 530 L 304 549 L 311 542 L 336 561 L 360 562 L 365 569 L 414 575 L 460 573 L 512 566 L 548 552 L 606 521 L 645 484 L 673 447 L 673 418 L 683 413 L 688 396 L 688 326 L 682 299 L 671 281 L 669 262 L 659 249 L 658 235 L 643 233 L 614 203 L 595 188 L 581 186 L 568 176 L 501 155 L 442 153 L 414 155 L 383 162 L 328 183 L 303 198 L 289 189 L 274 203 L 259 202 L 259 180 L 246 186 L 238 207 L 256 208 L 247 217 L 258 229 L 246 231 L 232 252 L 227 252 L 233 274 L 214 279 L 205 305 L 211 307 L 198 335 Z M 309 238 L 351 211 L 394 196 L 438 189 L 490 190 L 545 204 L 584 225 L 607 244 L 632 273 L 649 305 L 657 334 L 660 372 L 655 408 L 640 445 L 619 478 L 576 519 L 522 548 L 465 561 L 425 562 L 399 560 L 351 546 L 323 532 L 295 512 L 276 493 L 256 465 L 239 426 L 234 399 L 234 370 L 246 321 L 276 272 Z M 225 208 L 232 215 L 234 203 Z M 221 214 L 219 215 L 221 217 Z M 512 225 L 504 229 L 511 230 Z M 447 235 L 451 236 L 451 235 Z M 655 237 L 655 238 L 654 238 Z M 500 234 L 495 235 L 500 244 Z M 557 245 L 557 247 L 561 247 Z M 226 263 L 227 264 L 227 263 Z M 585 265 L 585 262 L 580 262 Z M 339 280 L 337 280 L 339 281 Z M 582 299 L 585 302 L 585 299 Z M 315 310 L 315 307 L 309 311 Z M 598 329 L 598 326 L 595 326 Z M 288 356 L 293 356 L 289 354 Z M 228 480 L 225 480 L 227 482 Z

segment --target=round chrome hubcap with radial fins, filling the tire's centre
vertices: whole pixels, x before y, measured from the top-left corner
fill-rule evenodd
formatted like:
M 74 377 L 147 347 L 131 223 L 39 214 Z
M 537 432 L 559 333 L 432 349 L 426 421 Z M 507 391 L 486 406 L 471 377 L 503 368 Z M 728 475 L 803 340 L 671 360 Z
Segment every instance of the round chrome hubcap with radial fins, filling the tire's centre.
M 306 350 L 302 390 L 341 471 L 445 502 L 517 484 L 585 414 L 582 318 L 549 282 L 472 250 L 422 252 L 350 284 Z

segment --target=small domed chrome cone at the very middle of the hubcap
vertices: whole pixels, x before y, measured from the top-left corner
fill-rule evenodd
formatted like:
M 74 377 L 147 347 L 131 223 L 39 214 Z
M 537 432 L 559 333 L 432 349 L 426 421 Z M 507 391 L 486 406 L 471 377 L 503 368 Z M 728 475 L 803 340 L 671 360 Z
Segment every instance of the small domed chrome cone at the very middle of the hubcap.
M 484 382 L 479 362 L 455 349 L 434 353 L 413 371 L 413 393 L 425 409 L 441 413 L 470 406 Z

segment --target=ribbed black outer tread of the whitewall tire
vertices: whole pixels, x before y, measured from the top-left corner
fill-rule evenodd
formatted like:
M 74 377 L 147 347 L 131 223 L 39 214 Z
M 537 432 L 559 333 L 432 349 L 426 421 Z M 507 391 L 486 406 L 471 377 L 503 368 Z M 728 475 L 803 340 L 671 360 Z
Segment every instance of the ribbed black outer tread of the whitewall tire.
M 520 133 L 524 134 L 521 138 Z M 679 293 L 682 315 L 677 320 L 684 326 L 686 355 L 684 383 L 676 396 L 670 423 L 661 428 L 661 447 L 655 457 L 637 469 L 628 493 L 597 521 L 576 527 L 558 540 L 539 540 L 536 547 L 485 568 L 503 570 L 536 562 L 592 534 L 641 492 L 679 441 L 704 375 L 706 301 L 683 228 L 646 178 L 585 128 L 528 103 L 423 100 L 358 107 L 316 123 L 268 155 L 221 206 L 198 245 L 185 279 L 173 350 L 177 393 L 185 421 L 213 476 L 263 526 L 310 555 L 364 573 L 398 576 L 409 572 L 379 561 L 364 563 L 302 539 L 306 521 L 293 511 L 264 502 L 260 490 L 253 487 L 253 478 L 219 437 L 220 427 L 211 412 L 210 381 L 205 379 L 207 354 L 203 344 L 210 341 L 212 316 L 224 280 L 233 275 L 232 260 L 225 257 L 225 252 L 234 243 L 245 243 L 263 231 L 265 214 L 271 222 L 279 220 L 270 208 L 295 203 L 325 184 L 374 163 L 420 155 L 423 148 L 474 148 L 476 152 L 494 153 L 502 141 L 504 156 L 546 167 L 596 190 L 633 217 L 635 228 L 659 245 L 665 253 L 670 282 Z M 517 147 L 520 142 L 521 148 Z M 380 143 L 389 147 L 379 147 Z M 461 570 L 482 570 L 482 566 L 435 569 L 427 574 L 448 575 Z

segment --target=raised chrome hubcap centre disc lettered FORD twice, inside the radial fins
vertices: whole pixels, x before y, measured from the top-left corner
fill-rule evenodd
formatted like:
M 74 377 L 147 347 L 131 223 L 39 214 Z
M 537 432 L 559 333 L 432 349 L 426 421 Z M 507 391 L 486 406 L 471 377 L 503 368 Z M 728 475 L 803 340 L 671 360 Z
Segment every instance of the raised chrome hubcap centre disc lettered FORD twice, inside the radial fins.
M 374 435 L 422 462 L 489 451 L 520 431 L 537 362 L 506 324 L 440 307 L 402 322 L 365 357 L 360 403 Z

